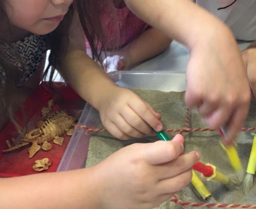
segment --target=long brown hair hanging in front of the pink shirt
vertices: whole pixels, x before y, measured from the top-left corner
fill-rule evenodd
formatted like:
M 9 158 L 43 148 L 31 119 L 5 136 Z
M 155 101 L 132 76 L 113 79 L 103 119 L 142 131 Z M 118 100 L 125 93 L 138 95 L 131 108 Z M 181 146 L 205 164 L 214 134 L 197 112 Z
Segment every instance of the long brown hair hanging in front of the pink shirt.
M 116 52 L 120 46 L 120 22 L 113 0 L 75 0 L 82 28 L 92 50 L 92 59 L 102 64 L 106 51 Z M 123 2 L 123 1 L 122 1 Z M 124 4 L 124 2 L 123 2 Z M 102 16 L 101 16 L 102 15 Z M 101 21 L 101 17 L 106 18 Z M 121 22 L 122 23 L 122 22 Z M 102 28 L 110 27 L 116 34 L 116 46 L 109 48 L 108 32 Z M 108 48 L 107 48 L 108 47 Z

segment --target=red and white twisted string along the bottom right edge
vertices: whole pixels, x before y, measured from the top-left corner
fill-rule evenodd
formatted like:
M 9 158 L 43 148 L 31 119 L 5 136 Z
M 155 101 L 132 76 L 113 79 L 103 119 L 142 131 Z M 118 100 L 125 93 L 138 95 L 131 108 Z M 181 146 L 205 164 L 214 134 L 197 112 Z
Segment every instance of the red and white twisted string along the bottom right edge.
M 182 201 L 178 198 L 178 195 L 174 195 L 170 199 L 170 201 L 181 205 L 182 207 L 190 206 L 190 207 L 216 207 L 216 208 L 255 208 L 256 205 L 244 205 L 244 204 L 230 204 L 230 203 L 203 203 L 203 202 L 198 202 L 198 203 L 192 203 L 192 202 L 186 202 Z

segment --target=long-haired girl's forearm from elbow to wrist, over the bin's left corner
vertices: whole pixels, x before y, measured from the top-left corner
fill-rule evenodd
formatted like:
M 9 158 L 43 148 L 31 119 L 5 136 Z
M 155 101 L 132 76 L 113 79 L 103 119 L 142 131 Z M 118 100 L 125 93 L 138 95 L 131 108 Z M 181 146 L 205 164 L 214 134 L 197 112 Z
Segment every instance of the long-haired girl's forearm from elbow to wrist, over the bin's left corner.
M 116 84 L 82 50 L 71 49 L 62 60 L 60 73 L 65 80 L 84 100 L 99 109 L 102 100 L 112 94 Z

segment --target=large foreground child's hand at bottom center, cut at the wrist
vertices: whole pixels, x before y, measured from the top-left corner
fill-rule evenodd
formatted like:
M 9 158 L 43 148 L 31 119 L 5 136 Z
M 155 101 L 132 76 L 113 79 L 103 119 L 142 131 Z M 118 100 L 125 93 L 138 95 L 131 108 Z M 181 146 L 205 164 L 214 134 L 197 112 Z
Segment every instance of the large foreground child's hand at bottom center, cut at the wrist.
M 172 141 L 136 143 L 92 167 L 103 209 L 151 209 L 170 199 L 192 178 L 199 154 L 183 151 L 183 137 Z

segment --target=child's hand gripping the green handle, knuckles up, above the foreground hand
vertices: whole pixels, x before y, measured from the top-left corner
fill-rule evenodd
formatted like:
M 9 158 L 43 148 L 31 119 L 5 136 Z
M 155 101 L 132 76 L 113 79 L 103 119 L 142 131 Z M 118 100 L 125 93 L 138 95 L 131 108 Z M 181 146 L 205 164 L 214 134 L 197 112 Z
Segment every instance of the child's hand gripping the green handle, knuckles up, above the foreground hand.
M 115 86 L 102 95 L 100 119 L 108 131 L 118 139 L 152 135 L 161 131 L 161 115 L 131 90 Z

